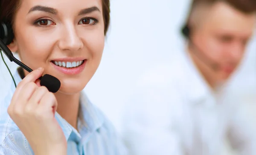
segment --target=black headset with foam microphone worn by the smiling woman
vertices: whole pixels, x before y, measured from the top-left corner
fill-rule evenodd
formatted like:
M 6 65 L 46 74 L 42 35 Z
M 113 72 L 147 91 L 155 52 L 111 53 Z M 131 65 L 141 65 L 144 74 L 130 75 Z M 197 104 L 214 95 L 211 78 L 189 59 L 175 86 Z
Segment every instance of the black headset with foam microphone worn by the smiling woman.
M 17 65 L 19 65 L 20 67 L 22 67 L 23 69 L 26 69 L 26 71 L 28 72 L 32 72 L 33 70 L 30 69 L 28 66 L 26 66 L 24 63 L 20 62 L 19 60 L 17 60 L 11 50 L 7 47 L 7 45 L 9 45 L 10 43 L 12 43 L 12 40 L 14 39 L 14 34 L 13 34 L 13 30 L 12 30 L 12 25 L 10 22 L 8 22 L 7 20 L 4 20 L 5 22 L 1 22 L 0 24 L 0 48 L 2 49 L 3 53 L 8 57 L 8 59 L 12 62 L 15 62 Z M 3 59 L 3 62 L 5 63 L 9 73 L 12 76 L 12 73 L 9 69 L 9 67 L 7 66 L 3 55 L 2 55 L 2 51 L 1 51 L 1 56 Z M 12 76 L 12 80 L 15 83 L 15 80 Z M 55 78 L 52 75 L 44 75 L 43 77 L 39 78 L 40 81 L 40 85 L 41 86 L 45 86 L 47 87 L 47 89 L 49 90 L 49 92 L 58 92 L 59 88 L 61 87 L 61 82 L 60 80 L 58 80 L 57 78 Z M 15 87 L 16 83 L 15 83 Z

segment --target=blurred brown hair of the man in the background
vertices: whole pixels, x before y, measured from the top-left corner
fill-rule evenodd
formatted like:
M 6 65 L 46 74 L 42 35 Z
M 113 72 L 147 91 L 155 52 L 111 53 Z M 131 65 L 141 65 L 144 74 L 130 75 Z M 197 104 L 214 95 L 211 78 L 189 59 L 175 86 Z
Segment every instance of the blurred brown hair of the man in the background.
M 214 4 L 216 2 L 225 2 L 246 14 L 251 14 L 256 11 L 256 0 L 193 0 L 192 8 L 200 3 Z

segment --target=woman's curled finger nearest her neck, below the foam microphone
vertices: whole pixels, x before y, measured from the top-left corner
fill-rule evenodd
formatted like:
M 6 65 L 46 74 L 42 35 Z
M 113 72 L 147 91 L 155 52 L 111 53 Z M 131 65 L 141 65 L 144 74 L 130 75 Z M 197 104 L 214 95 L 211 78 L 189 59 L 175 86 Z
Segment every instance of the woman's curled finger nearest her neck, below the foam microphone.
M 52 112 L 52 114 L 54 115 L 56 112 L 57 106 L 58 105 L 57 105 L 57 100 L 55 98 L 55 95 L 52 92 L 47 92 L 43 96 L 43 98 L 40 100 L 37 109 L 38 111 L 45 112 L 45 113 Z

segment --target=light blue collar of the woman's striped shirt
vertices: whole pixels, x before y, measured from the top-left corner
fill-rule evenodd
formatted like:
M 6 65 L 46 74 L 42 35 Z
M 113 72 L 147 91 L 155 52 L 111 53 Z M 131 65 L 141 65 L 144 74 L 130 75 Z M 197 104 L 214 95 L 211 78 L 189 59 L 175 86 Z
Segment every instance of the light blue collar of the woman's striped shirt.
M 16 70 L 14 74 L 14 79 L 16 84 L 20 83 L 22 80 L 18 70 Z M 12 86 L 14 86 L 14 84 L 12 84 Z M 78 124 L 81 126 L 79 128 L 80 134 L 75 128 L 73 128 L 73 126 L 71 126 L 64 118 L 62 118 L 58 112 L 55 113 L 55 118 L 63 130 L 66 140 L 70 138 L 72 132 L 75 133 L 78 138 L 81 138 L 81 136 L 85 136 L 84 134 L 90 134 L 94 131 L 97 131 L 104 123 L 104 115 L 88 100 L 83 91 L 81 92 L 80 96 L 80 108 L 81 116 L 84 120 L 84 123 L 82 123 L 81 120 L 78 120 Z

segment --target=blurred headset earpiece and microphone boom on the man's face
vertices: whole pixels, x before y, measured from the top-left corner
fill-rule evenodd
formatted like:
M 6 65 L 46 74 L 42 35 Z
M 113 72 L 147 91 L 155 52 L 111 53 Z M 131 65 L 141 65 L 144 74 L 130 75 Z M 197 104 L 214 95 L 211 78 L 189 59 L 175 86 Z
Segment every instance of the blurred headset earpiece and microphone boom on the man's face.
M 189 26 L 187 24 L 185 26 L 183 26 L 183 28 L 181 29 L 181 33 L 183 34 L 184 37 L 186 37 L 186 39 L 189 39 L 191 45 L 196 49 L 197 52 L 193 51 L 193 53 L 200 60 L 202 60 L 205 64 L 210 66 L 213 70 L 217 71 L 219 69 L 218 63 L 212 62 L 212 60 L 209 60 L 209 58 L 206 55 L 203 55 L 203 52 L 201 52 L 201 50 L 199 50 L 197 48 L 197 46 L 191 40 L 191 38 L 190 38 L 191 30 L 190 30 L 190 28 L 189 28 Z M 199 54 L 199 52 L 200 52 L 200 54 Z

